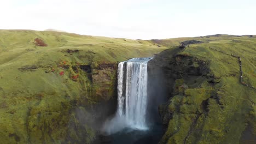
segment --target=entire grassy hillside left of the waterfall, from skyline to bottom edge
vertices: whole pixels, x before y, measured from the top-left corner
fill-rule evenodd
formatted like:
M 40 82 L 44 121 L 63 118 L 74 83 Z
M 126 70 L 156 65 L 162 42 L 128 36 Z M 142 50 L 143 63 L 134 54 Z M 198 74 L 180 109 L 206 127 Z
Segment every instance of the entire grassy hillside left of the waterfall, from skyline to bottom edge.
M 95 105 L 113 99 L 117 62 L 164 49 L 143 40 L 0 30 L 1 143 L 92 142 L 97 120 L 109 113 Z

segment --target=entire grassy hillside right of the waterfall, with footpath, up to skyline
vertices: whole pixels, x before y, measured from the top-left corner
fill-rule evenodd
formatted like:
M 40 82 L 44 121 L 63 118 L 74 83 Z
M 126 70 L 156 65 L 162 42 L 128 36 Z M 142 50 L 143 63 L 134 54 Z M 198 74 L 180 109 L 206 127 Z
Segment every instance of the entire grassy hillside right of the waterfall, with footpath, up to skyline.
M 256 37 L 211 35 L 156 42 L 178 45 L 193 39 L 203 43 L 173 47 L 152 62 L 164 69 L 170 90 L 167 104 L 160 106 L 166 132 L 159 143 L 255 143 Z M 234 55 L 241 57 L 246 85 L 240 82 Z

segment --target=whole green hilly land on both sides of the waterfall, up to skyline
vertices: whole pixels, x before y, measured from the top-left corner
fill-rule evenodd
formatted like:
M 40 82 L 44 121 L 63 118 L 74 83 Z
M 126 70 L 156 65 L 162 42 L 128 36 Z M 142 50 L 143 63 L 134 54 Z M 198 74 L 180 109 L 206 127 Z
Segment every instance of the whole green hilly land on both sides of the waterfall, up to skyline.
M 255 35 L 131 40 L 0 30 L 0 140 L 92 143 L 115 109 L 118 62 L 154 54 L 160 68 L 181 75 L 169 77 L 160 143 L 239 143 L 247 125 L 256 135 Z M 245 85 L 231 54 L 241 57 Z M 188 73 L 202 65 L 202 77 Z

